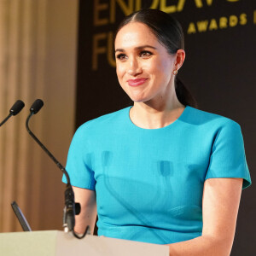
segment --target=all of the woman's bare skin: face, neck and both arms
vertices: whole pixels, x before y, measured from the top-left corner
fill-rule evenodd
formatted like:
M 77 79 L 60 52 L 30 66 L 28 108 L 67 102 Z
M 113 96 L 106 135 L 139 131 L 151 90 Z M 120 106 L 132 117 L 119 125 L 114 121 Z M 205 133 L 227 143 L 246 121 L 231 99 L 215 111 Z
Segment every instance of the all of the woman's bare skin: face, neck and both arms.
M 148 26 L 131 22 L 117 34 L 115 40 L 116 72 L 119 84 L 134 106 L 132 122 L 145 129 L 165 127 L 183 113 L 174 88 L 174 70 L 183 65 L 185 52 L 178 49 L 170 55 L 158 42 Z M 144 79 L 138 86 L 129 80 Z M 241 178 L 210 178 L 204 183 L 202 198 L 202 236 L 169 245 L 172 256 L 228 256 L 234 241 L 236 218 L 241 198 Z M 73 188 L 81 213 L 76 217 L 75 230 L 83 233 L 87 225 L 96 222 L 96 193 Z

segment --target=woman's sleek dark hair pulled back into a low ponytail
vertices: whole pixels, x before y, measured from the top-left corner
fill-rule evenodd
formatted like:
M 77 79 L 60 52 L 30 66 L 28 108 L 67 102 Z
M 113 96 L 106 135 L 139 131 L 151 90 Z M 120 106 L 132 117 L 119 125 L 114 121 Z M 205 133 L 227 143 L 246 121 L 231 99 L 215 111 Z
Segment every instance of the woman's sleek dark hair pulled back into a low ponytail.
M 178 49 L 184 49 L 184 35 L 182 26 L 172 16 L 167 15 L 158 9 L 141 9 L 125 19 L 119 24 L 119 30 L 130 22 L 141 22 L 149 27 L 160 44 L 166 47 L 167 52 L 176 54 Z M 175 90 L 177 99 L 184 106 L 197 108 L 197 102 L 190 91 L 185 87 L 180 79 L 175 77 Z

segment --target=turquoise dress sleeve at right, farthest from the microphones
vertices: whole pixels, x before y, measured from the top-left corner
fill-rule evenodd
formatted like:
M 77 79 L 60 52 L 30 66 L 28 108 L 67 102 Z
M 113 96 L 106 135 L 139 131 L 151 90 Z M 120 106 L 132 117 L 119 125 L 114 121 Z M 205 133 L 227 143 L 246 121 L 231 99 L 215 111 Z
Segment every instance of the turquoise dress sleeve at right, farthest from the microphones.
M 230 120 L 218 130 L 212 143 L 212 153 L 206 178 L 241 177 L 242 189 L 252 182 L 247 166 L 241 127 Z

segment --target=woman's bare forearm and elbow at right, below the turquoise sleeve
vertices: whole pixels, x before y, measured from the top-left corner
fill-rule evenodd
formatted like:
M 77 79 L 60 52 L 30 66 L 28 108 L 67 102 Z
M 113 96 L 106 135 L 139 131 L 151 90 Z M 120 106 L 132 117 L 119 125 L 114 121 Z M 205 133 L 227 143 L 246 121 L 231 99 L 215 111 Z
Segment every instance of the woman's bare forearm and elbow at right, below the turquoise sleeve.
M 242 178 L 209 178 L 202 199 L 202 236 L 170 244 L 170 256 L 228 256 L 234 241 Z

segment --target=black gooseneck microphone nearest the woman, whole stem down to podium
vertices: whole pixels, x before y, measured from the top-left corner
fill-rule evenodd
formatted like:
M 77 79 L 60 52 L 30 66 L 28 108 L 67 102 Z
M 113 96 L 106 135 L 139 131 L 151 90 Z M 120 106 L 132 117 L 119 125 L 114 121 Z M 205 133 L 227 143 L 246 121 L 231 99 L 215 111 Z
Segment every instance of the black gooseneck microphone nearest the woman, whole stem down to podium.
M 73 236 L 81 239 L 87 234 L 89 226 L 84 231 L 83 236 L 77 235 L 75 233 L 75 231 L 73 230 L 74 225 L 75 225 L 74 215 L 75 214 L 78 215 L 80 213 L 80 204 L 74 202 L 74 193 L 73 193 L 72 185 L 70 183 L 70 177 L 69 177 L 66 169 L 64 168 L 64 166 L 62 166 L 61 163 L 58 160 L 55 159 L 54 155 L 51 154 L 49 152 L 49 150 L 44 146 L 44 144 L 39 141 L 38 137 L 36 137 L 32 133 L 32 131 L 30 130 L 30 128 L 28 126 L 29 120 L 31 119 L 32 115 L 38 113 L 39 110 L 43 106 L 44 106 L 44 102 L 40 99 L 38 99 L 38 100 L 36 100 L 35 102 L 32 103 L 32 106 L 30 108 L 30 114 L 28 115 L 28 117 L 26 119 L 26 130 L 28 131 L 29 135 L 39 144 L 39 146 L 41 148 L 43 148 L 44 152 L 49 155 L 50 159 L 55 162 L 56 166 L 58 166 L 58 168 L 61 169 L 61 172 L 63 172 L 64 175 L 66 176 L 66 178 L 67 178 L 67 189 L 65 191 L 65 207 L 64 207 L 64 214 L 63 214 L 63 227 L 64 227 L 65 232 L 72 231 Z

